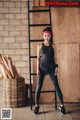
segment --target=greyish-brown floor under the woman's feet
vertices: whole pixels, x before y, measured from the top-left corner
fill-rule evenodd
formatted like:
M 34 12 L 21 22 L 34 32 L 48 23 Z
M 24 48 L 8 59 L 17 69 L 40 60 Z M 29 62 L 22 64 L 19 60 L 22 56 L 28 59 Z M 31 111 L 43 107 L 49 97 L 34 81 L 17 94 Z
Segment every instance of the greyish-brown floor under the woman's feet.
M 30 110 L 30 106 L 13 108 L 12 120 L 80 120 L 80 103 L 65 104 L 65 107 L 66 115 L 61 115 L 59 110 L 55 110 L 53 104 L 40 105 L 39 115 L 35 115 L 33 110 Z M 0 108 L 3 108 L 2 104 Z

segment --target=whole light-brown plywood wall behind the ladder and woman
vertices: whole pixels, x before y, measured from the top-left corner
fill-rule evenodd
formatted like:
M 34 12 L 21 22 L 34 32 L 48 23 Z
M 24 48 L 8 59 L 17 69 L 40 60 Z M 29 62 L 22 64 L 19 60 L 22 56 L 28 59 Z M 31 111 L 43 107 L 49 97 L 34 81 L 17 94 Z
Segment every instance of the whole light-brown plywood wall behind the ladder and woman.
M 52 11 L 52 14 L 51 14 L 52 27 L 53 27 L 53 33 L 54 33 L 53 40 L 54 40 L 54 43 L 57 44 L 58 51 L 59 51 L 58 52 L 58 63 L 59 63 L 58 78 L 59 78 L 60 87 L 62 89 L 65 101 L 71 101 L 71 102 L 80 101 L 79 99 L 80 97 L 80 94 L 79 94 L 79 88 L 80 88 L 79 87 L 79 84 L 80 84 L 79 82 L 79 64 L 80 64 L 79 62 L 79 54 L 80 54 L 79 53 L 79 41 L 80 41 L 79 13 L 80 11 L 79 11 L 79 8 L 76 8 L 76 9 L 75 8 L 51 8 L 51 11 Z M 47 13 L 46 13 L 46 16 L 48 18 Z M 42 15 L 35 14 L 33 15 L 33 23 L 37 23 L 37 22 L 45 23 L 45 22 L 48 22 L 48 19 L 44 17 L 44 14 Z M 34 31 L 33 39 L 42 39 L 43 29 L 44 27 L 33 28 L 33 31 Z M 38 32 L 36 32 L 37 30 Z M 78 44 L 74 44 L 76 42 Z M 38 43 L 33 45 L 33 48 L 34 48 L 33 53 L 35 54 L 36 54 L 37 44 Z M 36 72 L 36 61 L 34 60 L 33 63 L 34 63 L 33 71 Z M 36 79 L 36 81 L 34 80 L 35 82 L 33 83 L 33 86 L 35 89 L 37 78 L 34 76 L 34 79 Z M 48 76 L 46 77 L 45 81 L 48 81 L 48 84 L 50 84 L 51 88 L 53 88 L 53 85 L 51 84 L 51 80 L 49 79 Z M 48 87 L 45 81 L 44 81 L 43 89 L 47 89 Z M 54 99 L 53 95 L 48 96 L 48 94 L 47 95 L 42 94 L 41 101 L 42 102 L 49 101 L 48 99 L 49 97 L 51 101 Z

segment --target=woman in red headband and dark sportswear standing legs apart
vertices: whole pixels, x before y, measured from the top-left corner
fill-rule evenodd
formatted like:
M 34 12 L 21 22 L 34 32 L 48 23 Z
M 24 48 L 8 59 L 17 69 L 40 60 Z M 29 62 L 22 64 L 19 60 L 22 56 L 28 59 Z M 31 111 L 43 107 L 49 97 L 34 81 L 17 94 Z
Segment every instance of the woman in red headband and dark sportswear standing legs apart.
M 47 27 L 43 30 L 43 39 L 44 42 L 41 45 L 37 46 L 37 76 L 38 76 L 38 84 L 35 92 L 35 109 L 34 113 L 39 113 L 39 98 L 40 91 L 43 85 L 45 75 L 49 75 L 54 87 L 55 91 L 60 100 L 60 112 L 61 114 L 65 114 L 65 108 L 63 104 L 63 96 L 60 90 L 58 80 L 57 80 L 57 72 L 58 72 L 58 64 L 56 57 L 56 47 L 53 44 L 53 33 L 50 27 Z

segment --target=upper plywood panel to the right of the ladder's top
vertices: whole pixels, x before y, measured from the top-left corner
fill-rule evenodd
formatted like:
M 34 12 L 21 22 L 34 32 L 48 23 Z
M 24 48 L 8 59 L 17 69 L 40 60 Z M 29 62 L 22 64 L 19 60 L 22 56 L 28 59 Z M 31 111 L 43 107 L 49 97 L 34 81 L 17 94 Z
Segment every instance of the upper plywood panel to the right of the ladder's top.
M 57 43 L 80 43 L 79 8 L 52 8 L 54 41 Z

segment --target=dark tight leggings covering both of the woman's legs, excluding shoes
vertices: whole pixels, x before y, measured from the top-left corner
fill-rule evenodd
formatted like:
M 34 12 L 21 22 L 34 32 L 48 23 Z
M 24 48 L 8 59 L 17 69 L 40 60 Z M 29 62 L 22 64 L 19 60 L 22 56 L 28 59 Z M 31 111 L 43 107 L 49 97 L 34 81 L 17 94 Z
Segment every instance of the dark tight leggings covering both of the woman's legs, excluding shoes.
M 42 71 L 40 76 L 38 77 L 38 84 L 37 84 L 37 88 L 36 88 L 36 92 L 35 92 L 35 104 L 39 105 L 40 91 L 42 89 L 44 77 L 46 74 L 48 74 L 50 76 L 50 78 L 54 84 L 55 91 L 59 97 L 60 103 L 63 104 L 63 96 L 62 96 L 62 92 L 61 92 L 59 84 L 58 84 L 57 75 L 54 75 L 53 71 L 49 71 L 47 73 Z

